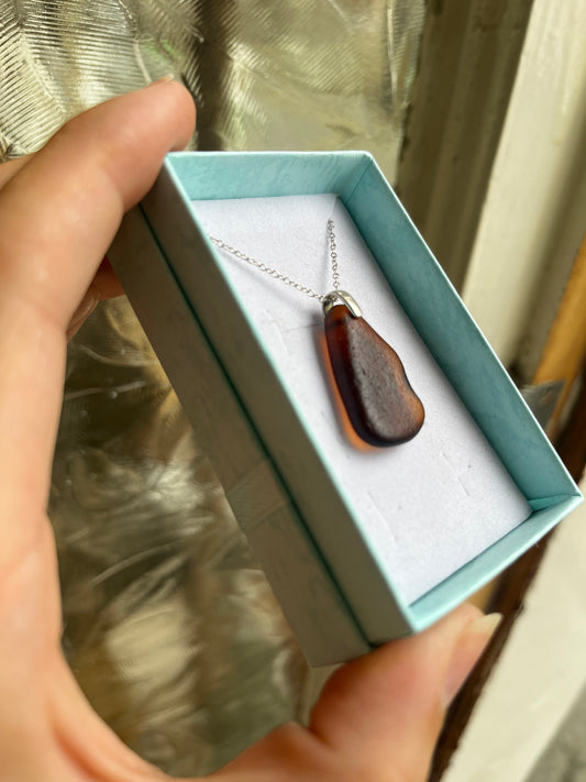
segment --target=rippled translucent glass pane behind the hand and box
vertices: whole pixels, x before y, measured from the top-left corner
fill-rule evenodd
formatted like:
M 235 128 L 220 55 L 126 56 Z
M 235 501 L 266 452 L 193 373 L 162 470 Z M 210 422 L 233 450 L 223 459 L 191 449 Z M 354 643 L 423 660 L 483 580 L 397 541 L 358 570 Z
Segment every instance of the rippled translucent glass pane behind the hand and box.
M 423 0 L 3 0 L 0 154 L 174 73 L 201 148 L 367 148 L 392 180 L 423 18 Z M 137 752 L 201 774 L 302 717 L 307 667 L 124 299 L 70 345 L 49 513 L 67 658 Z

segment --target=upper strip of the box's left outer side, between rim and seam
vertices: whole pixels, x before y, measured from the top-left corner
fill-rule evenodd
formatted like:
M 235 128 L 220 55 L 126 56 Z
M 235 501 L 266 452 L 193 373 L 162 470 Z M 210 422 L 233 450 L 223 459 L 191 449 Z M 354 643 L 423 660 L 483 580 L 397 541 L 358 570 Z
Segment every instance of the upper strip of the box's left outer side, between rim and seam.
M 405 635 L 410 627 L 407 604 L 397 594 L 395 585 L 389 582 L 384 569 L 376 566 L 380 562 L 378 552 L 373 551 L 363 530 L 352 522 L 353 515 L 349 509 L 347 499 L 340 487 L 335 485 L 324 461 L 320 459 L 320 449 L 303 426 L 302 418 L 288 394 L 286 384 L 275 372 L 273 362 L 263 348 L 254 323 L 246 315 L 246 308 L 242 304 L 237 290 L 234 289 L 231 280 L 217 263 L 215 250 L 199 228 L 197 214 L 190 202 L 191 197 L 199 197 L 199 192 L 196 190 L 186 191 L 183 176 L 186 173 L 185 163 L 192 165 L 194 159 L 200 158 L 201 155 L 204 156 L 204 165 L 201 168 L 198 166 L 198 176 L 189 178 L 189 186 L 197 187 L 200 181 L 203 181 L 206 191 L 212 192 L 209 179 L 214 169 L 213 166 L 210 166 L 210 157 L 219 157 L 225 165 L 223 156 L 213 153 L 192 153 L 190 157 L 186 158 L 185 155 L 180 155 L 179 161 L 183 165 L 179 170 L 166 167 L 155 190 L 143 201 L 142 208 L 145 219 L 153 235 L 156 236 L 167 263 L 172 266 L 173 274 L 184 291 L 186 300 L 190 302 L 192 309 L 198 310 L 197 320 L 221 365 L 223 365 L 223 359 L 219 343 L 225 344 L 226 334 L 229 334 L 230 342 L 233 342 L 234 339 L 239 341 L 240 346 L 233 353 L 231 372 L 228 372 L 224 366 L 224 373 L 241 406 L 246 410 L 246 415 L 253 404 L 262 409 L 263 420 L 256 420 L 253 426 L 256 428 L 258 441 L 270 453 L 280 481 L 287 486 L 292 497 L 300 492 L 296 493 L 291 488 L 291 474 L 298 469 L 298 463 L 291 464 L 289 462 L 288 469 L 284 470 L 284 463 L 287 462 L 289 452 L 305 453 L 306 456 L 301 460 L 303 465 L 311 463 L 311 467 L 305 466 L 305 474 L 297 482 L 298 486 L 303 486 L 302 494 L 306 495 L 306 506 L 312 505 L 313 526 L 311 528 L 306 526 L 311 539 L 323 552 L 323 546 L 319 540 L 320 531 L 317 527 L 320 522 L 322 528 L 330 527 L 327 519 L 336 518 L 336 548 L 340 551 L 342 549 L 353 551 L 357 561 L 363 558 L 364 561 L 358 568 L 360 574 L 342 566 L 341 560 L 343 558 L 338 550 L 330 549 L 329 555 L 325 558 L 329 570 L 345 595 L 351 612 L 357 619 L 360 617 L 362 631 L 371 642 L 388 639 L 382 635 L 380 628 L 385 626 L 387 629 L 392 627 L 394 635 Z M 347 158 L 356 158 L 356 155 L 349 155 Z M 360 155 L 358 158 L 364 165 L 363 156 Z M 365 163 L 368 164 L 368 162 L 367 157 Z M 320 168 L 316 163 L 317 161 L 310 166 L 313 176 Z M 356 159 L 354 159 L 355 164 Z M 222 186 L 225 173 L 229 173 L 230 178 L 233 178 L 234 167 L 215 172 L 217 176 L 212 177 L 215 187 Z M 362 173 L 361 170 L 356 177 L 354 170 L 355 176 L 349 179 L 349 172 L 343 168 L 342 180 L 352 188 Z M 319 176 L 317 180 L 319 180 Z M 334 178 L 332 181 L 335 184 Z M 255 189 L 255 192 L 263 190 Z M 164 210 L 166 210 L 165 217 L 163 217 Z M 169 218 L 169 210 L 173 212 L 173 218 Z M 186 247 L 188 247 L 188 252 Z M 207 252 L 206 257 L 202 255 L 203 250 Z M 198 255 L 200 264 L 197 285 L 194 284 L 190 273 L 195 255 Z M 197 302 L 197 306 L 194 302 Z M 217 317 L 218 311 L 222 312 L 220 320 Z M 252 376 L 248 362 L 252 360 L 253 353 L 255 373 Z M 237 359 L 234 360 L 234 354 L 236 356 L 246 355 L 246 368 L 240 373 L 237 382 L 234 382 L 234 375 L 237 374 L 237 367 L 234 364 Z M 276 398 L 280 398 L 278 405 L 274 404 Z M 274 433 L 280 430 L 284 432 L 283 437 L 275 437 Z M 266 432 L 270 432 L 273 436 L 273 449 L 266 444 Z M 279 442 L 283 443 L 280 453 Z M 299 460 L 295 461 L 299 462 Z M 308 497 L 311 497 L 311 500 L 307 499 Z M 307 513 L 303 514 L 303 507 L 300 507 L 300 518 L 303 519 Z M 371 595 L 372 598 L 367 598 L 367 595 Z

